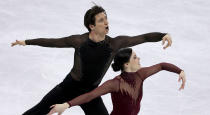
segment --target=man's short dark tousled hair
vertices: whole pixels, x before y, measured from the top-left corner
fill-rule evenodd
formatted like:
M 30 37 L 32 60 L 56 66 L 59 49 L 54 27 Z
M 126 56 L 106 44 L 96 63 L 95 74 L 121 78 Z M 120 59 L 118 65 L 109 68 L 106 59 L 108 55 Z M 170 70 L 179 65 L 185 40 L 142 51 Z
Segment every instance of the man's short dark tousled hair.
M 106 11 L 101 6 L 95 5 L 85 13 L 84 25 L 89 32 L 91 31 L 89 25 L 95 25 L 95 16 L 101 12 L 106 14 Z

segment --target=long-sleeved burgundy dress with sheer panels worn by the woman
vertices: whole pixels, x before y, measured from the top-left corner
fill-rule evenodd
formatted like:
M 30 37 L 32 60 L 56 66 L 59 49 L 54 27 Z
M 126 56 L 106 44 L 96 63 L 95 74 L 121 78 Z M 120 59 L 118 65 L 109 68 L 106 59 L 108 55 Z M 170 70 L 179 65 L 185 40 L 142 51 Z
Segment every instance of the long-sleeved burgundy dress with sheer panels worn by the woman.
M 140 102 L 143 95 L 143 81 L 161 71 L 167 70 L 174 73 L 181 73 L 181 69 L 169 63 L 160 63 L 150 67 L 144 67 L 137 72 L 122 72 L 112 80 L 108 80 L 100 87 L 83 94 L 68 103 L 71 106 L 87 103 L 90 100 L 111 92 L 113 111 L 111 115 L 137 115 L 140 111 Z M 113 91 L 113 87 L 118 87 L 118 91 Z

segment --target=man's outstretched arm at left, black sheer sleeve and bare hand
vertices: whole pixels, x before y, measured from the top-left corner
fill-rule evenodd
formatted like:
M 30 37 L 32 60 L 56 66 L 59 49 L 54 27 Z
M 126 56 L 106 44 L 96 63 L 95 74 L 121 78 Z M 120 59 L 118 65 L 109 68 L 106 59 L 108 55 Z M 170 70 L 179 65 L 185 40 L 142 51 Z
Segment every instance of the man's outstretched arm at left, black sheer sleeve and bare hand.
M 15 45 L 38 45 L 43 47 L 58 47 L 58 48 L 65 48 L 65 47 L 74 47 L 77 42 L 79 35 L 72 35 L 69 37 L 64 38 L 38 38 L 38 39 L 28 39 L 28 40 L 16 40 L 15 42 L 11 43 L 11 46 Z

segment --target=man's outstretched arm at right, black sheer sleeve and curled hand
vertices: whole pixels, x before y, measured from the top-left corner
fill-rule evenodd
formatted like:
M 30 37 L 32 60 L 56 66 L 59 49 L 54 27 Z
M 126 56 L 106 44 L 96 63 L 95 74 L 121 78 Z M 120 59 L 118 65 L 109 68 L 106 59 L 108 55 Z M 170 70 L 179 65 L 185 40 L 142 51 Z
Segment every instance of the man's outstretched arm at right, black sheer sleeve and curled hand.
M 137 36 L 117 36 L 113 39 L 114 45 L 117 48 L 131 47 L 145 42 L 158 42 L 162 40 L 162 45 L 167 41 L 168 44 L 164 49 L 171 46 L 172 40 L 169 34 L 160 32 L 151 32 Z

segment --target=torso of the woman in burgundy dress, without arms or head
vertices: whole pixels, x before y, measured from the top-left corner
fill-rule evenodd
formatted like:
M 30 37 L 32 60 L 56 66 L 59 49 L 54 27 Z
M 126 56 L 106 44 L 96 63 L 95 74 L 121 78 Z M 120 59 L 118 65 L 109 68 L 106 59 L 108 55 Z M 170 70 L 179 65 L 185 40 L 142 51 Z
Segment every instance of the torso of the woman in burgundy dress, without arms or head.
M 119 91 L 112 92 L 113 111 L 111 115 L 137 115 L 142 99 L 141 80 L 137 72 L 123 72 L 116 78 L 119 80 Z

